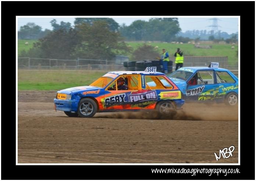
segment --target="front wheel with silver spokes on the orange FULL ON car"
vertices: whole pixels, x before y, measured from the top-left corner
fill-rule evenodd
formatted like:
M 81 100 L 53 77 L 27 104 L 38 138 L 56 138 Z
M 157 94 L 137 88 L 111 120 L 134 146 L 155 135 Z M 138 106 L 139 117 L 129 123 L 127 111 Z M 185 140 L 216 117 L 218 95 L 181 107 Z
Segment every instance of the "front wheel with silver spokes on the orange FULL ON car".
M 80 117 L 92 117 L 97 112 L 96 102 L 90 98 L 80 100 L 77 108 L 77 113 Z

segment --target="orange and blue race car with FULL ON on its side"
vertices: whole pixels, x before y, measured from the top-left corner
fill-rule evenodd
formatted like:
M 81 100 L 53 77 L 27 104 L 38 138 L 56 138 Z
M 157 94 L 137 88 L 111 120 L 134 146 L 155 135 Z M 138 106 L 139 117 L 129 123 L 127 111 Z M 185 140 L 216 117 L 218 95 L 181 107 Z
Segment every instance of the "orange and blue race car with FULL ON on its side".
M 157 109 L 170 113 L 184 104 L 179 88 L 155 67 L 145 71 L 108 72 L 89 86 L 57 91 L 55 109 L 71 117 L 96 112 Z M 148 84 L 150 83 L 150 85 Z

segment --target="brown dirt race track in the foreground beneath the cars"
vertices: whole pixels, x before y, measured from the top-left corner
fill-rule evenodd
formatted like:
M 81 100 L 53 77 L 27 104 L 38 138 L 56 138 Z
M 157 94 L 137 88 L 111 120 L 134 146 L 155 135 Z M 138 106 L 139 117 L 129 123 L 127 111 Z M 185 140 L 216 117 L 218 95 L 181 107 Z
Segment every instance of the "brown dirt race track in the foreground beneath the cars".
M 185 104 L 173 120 L 140 112 L 86 119 L 55 112 L 55 96 L 18 92 L 18 163 L 238 163 L 238 106 Z M 217 162 L 214 152 L 231 145 L 233 156 Z

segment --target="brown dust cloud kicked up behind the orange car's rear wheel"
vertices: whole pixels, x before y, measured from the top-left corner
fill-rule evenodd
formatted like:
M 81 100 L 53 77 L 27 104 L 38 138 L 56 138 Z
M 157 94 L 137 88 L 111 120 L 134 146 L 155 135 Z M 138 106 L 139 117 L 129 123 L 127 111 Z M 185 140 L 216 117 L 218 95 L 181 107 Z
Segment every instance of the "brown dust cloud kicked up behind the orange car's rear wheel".
M 238 121 L 238 106 L 186 103 L 181 110 L 160 114 L 155 110 L 98 113 L 95 118 Z

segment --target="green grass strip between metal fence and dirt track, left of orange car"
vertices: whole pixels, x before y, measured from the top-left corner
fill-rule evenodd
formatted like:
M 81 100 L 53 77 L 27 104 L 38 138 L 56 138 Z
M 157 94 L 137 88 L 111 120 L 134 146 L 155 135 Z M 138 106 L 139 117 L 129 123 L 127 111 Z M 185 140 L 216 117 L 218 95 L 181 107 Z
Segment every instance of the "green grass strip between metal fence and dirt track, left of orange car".
M 18 70 L 18 90 L 61 90 L 87 86 L 105 73 L 83 70 Z

